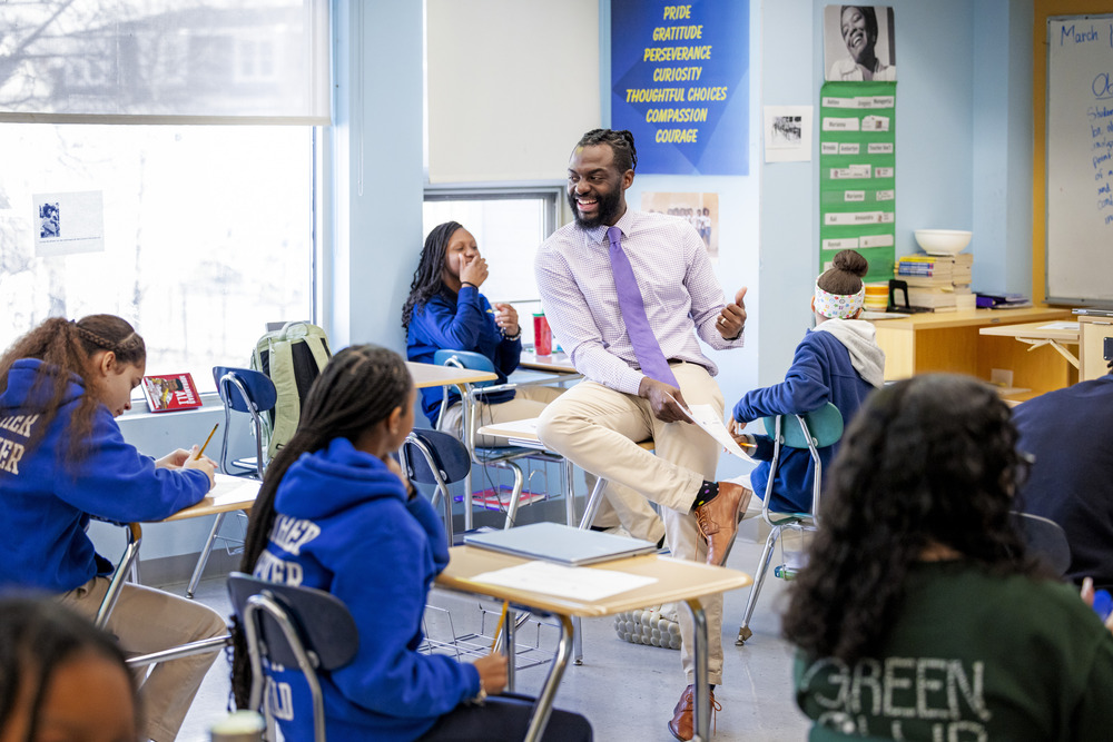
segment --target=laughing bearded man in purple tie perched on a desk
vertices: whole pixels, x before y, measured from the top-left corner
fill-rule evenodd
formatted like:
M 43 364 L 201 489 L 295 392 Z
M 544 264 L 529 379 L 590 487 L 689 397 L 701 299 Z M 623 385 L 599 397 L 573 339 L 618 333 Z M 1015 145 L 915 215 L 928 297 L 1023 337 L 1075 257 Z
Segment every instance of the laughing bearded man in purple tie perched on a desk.
M 722 564 L 751 493 L 715 482 L 721 446 L 683 422 L 687 404 L 722 417 L 713 348 L 742 346 L 741 289 L 723 301 L 707 248 L 688 221 L 627 208 L 638 154 L 629 131 L 595 129 L 572 150 L 568 201 L 575 224 L 553 234 L 536 257 L 545 315 L 585 377 L 549 405 L 538 434 L 577 466 L 633 488 L 662 506 L 674 556 Z M 639 445 L 652 438 L 653 455 Z M 722 680 L 722 595 L 702 598 L 709 679 Z M 681 612 L 688 687 L 669 730 L 692 738 L 692 625 Z

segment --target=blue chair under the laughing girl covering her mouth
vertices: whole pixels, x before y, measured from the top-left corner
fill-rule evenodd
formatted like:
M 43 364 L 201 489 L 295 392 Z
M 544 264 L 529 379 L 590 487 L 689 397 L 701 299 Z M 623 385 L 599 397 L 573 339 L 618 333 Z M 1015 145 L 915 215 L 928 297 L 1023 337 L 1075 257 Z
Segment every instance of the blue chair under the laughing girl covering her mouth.
M 491 373 L 495 370 L 494 364 L 491 363 L 490 358 L 480 353 L 472 353 L 471 350 L 437 350 L 433 354 L 433 363 L 439 366 L 455 366 L 456 368 L 470 368 L 472 370 Z M 526 448 L 524 446 L 484 447 L 475 445 L 475 428 L 479 427 L 475 419 L 479 409 L 476 403 L 481 402 L 489 394 L 513 389 L 516 385 L 513 383 L 496 385 L 494 382 L 479 382 L 466 384 L 464 387 L 464 393 L 461 395 L 461 404 L 463 405 L 463 435 L 464 445 L 467 448 L 467 454 L 472 463 L 480 466 L 508 469 L 514 475 L 510 508 L 506 511 L 506 522 L 503 525 L 504 528 L 511 528 L 514 526 L 518 517 L 518 506 L 522 496 L 522 487 L 525 483 L 522 468 L 514 461 L 518 458 L 541 458 L 546 462 L 560 462 L 562 459 L 555 454 L 546 454 L 543 451 Z M 445 394 L 441 400 L 441 414 L 437 419 L 444 419 L 444 410 L 447 409 L 447 406 L 449 395 Z M 467 477 L 464 489 L 464 523 L 465 527 L 470 528 L 472 512 L 471 477 Z

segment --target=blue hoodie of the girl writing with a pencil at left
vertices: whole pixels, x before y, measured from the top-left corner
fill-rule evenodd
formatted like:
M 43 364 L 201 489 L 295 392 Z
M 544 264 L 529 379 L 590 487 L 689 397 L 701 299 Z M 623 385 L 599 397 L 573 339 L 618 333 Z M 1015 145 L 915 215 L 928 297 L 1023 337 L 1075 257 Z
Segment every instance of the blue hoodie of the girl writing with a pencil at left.
M 200 471 L 156 468 L 124 441 L 104 405 L 93 413 L 89 455 L 68 461 L 70 418 L 86 394 L 77 376 L 45 437 L 27 451 L 28 438 L 40 433 L 35 403 L 41 407 L 49 395 L 29 398 L 43 365 L 17 360 L 0 395 L 0 587 L 65 593 L 111 571 L 86 534 L 90 515 L 161 521 L 200 501 L 209 479 Z

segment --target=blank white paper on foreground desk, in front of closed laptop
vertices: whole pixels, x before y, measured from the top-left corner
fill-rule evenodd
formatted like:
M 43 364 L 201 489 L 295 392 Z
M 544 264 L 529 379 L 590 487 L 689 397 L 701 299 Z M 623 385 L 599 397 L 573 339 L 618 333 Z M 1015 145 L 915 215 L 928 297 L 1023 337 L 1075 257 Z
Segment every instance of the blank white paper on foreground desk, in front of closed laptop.
M 470 582 L 528 590 L 533 593 L 572 597 L 580 601 L 598 601 L 602 597 L 651 585 L 657 582 L 657 577 L 646 577 L 613 570 L 570 567 L 538 560 L 504 570 L 484 572 L 471 577 Z

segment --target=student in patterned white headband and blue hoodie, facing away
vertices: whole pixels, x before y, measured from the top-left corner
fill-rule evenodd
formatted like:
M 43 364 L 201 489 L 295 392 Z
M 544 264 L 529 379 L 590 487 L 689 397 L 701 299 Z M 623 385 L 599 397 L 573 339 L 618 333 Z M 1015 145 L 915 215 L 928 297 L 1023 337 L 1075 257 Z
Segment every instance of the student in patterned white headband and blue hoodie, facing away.
M 771 415 L 799 415 L 819 409 L 830 402 L 848 424 L 863 400 L 884 384 L 885 353 L 874 339 L 874 326 L 858 319 L 866 296 L 861 277 L 869 265 L 854 250 L 835 255 L 831 268 L 816 279 L 811 310 L 816 327 L 796 346 L 792 365 L 780 384 L 751 389 L 735 405 L 730 432 L 736 438 L 751 421 Z M 755 458 L 762 459 L 750 472 L 749 486 L 764 498 L 769 479 L 772 441 L 751 435 L 757 444 Z M 838 444 L 819 449 L 824 471 Z M 774 482 L 770 509 L 776 513 L 811 509 L 811 482 L 815 464 L 807 449 L 787 448 L 780 454 Z M 757 498 L 755 503 L 759 502 Z

